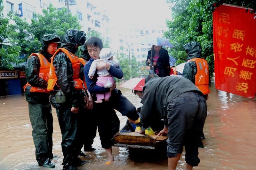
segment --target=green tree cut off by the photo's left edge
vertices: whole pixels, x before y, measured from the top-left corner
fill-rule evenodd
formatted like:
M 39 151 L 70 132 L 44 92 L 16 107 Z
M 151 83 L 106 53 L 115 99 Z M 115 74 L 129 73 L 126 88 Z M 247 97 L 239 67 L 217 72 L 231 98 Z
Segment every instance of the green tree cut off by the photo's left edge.
M 11 63 L 19 61 L 20 47 L 13 36 L 18 34 L 3 16 L 3 0 L 0 0 L 0 68 L 13 69 Z

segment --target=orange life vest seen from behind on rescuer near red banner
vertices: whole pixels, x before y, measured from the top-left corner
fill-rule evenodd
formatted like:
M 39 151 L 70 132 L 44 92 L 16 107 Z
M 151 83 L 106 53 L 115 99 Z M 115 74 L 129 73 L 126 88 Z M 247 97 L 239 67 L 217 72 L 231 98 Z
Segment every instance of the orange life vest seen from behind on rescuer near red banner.
M 196 75 L 195 75 L 195 85 L 203 94 L 210 93 L 209 90 L 209 68 L 206 60 L 202 58 L 193 58 L 188 61 L 196 62 Z

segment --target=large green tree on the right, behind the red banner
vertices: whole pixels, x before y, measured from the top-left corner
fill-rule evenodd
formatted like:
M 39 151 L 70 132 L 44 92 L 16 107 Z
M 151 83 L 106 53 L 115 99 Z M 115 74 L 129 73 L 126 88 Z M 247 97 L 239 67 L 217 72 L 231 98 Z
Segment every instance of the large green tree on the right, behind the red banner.
M 164 37 L 174 45 L 174 48 L 169 49 L 169 54 L 177 59 L 177 64 L 187 59 L 184 44 L 191 41 L 200 42 L 203 48 L 202 56 L 209 63 L 211 76 L 214 72 L 212 12 L 215 2 L 252 7 L 256 10 L 254 0 L 167 0 L 167 3 L 174 4 L 173 17 L 166 22 L 169 30 L 164 33 Z

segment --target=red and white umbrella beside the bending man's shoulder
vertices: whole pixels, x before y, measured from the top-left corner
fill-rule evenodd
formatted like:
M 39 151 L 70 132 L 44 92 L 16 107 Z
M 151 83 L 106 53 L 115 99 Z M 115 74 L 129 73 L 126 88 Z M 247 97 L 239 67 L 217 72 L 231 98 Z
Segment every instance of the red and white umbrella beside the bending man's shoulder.
M 124 82 L 123 84 L 119 85 L 119 87 L 142 91 L 144 85 L 145 85 L 145 78 L 132 78 Z

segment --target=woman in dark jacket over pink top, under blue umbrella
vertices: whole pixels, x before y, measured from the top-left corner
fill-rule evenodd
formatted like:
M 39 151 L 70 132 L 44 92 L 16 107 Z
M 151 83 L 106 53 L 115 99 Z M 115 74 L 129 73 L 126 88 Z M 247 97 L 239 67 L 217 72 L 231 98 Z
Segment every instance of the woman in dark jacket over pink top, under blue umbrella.
M 153 45 L 152 49 L 148 51 L 146 65 L 149 66 L 151 73 L 157 74 L 159 77 L 170 76 L 169 55 L 163 46 Z

